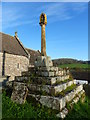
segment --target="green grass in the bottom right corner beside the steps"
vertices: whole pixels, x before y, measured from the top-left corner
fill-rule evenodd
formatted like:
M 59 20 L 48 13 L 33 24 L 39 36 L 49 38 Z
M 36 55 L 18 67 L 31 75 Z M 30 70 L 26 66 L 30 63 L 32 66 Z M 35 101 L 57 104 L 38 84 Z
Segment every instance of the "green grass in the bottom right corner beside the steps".
M 90 98 L 86 97 L 84 103 L 79 101 L 78 104 L 73 106 L 72 111 L 69 104 L 67 107 L 69 109 L 69 114 L 65 120 L 90 120 Z

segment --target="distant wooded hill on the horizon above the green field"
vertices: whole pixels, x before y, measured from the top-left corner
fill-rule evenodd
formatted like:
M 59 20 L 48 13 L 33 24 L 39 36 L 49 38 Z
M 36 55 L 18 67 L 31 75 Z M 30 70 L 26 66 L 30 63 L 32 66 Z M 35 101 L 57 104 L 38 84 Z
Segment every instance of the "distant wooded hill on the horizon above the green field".
M 60 59 L 53 59 L 54 66 L 62 65 L 62 64 L 72 64 L 72 63 L 82 63 L 82 64 L 90 64 L 90 61 L 83 61 L 83 60 L 77 60 L 72 58 L 60 58 Z

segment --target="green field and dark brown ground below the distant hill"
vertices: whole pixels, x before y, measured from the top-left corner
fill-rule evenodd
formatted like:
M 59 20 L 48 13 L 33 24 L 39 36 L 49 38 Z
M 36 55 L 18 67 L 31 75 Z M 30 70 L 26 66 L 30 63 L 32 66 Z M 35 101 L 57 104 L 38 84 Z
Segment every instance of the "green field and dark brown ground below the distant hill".
M 68 67 L 74 79 L 88 80 L 88 82 L 90 83 L 90 79 L 89 79 L 90 78 L 90 64 L 72 63 L 72 64 L 63 64 L 63 65 L 58 65 L 58 66 L 60 68 Z

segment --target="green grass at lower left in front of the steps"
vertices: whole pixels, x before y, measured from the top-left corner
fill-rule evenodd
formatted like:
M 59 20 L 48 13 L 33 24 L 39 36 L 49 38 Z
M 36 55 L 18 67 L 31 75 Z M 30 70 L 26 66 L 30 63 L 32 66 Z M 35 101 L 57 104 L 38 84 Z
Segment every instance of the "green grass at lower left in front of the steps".
M 27 102 L 23 105 L 16 104 L 11 101 L 11 99 L 6 96 L 6 92 L 2 96 L 2 116 L 4 118 L 52 118 L 55 119 L 55 111 L 47 109 L 46 107 L 38 104 L 34 106 L 33 101 Z

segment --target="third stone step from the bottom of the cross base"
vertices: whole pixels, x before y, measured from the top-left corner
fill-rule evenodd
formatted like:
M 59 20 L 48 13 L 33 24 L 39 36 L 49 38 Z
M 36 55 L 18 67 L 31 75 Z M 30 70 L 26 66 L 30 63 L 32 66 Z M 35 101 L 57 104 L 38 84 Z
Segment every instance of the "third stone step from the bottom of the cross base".
M 32 81 L 33 79 L 33 81 Z M 28 82 L 29 80 L 31 83 L 35 84 L 46 84 L 46 85 L 54 85 L 59 82 L 64 82 L 65 80 L 69 79 L 69 75 L 65 76 L 58 76 L 58 77 L 31 77 L 31 76 L 18 76 L 15 78 L 17 82 Z

